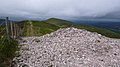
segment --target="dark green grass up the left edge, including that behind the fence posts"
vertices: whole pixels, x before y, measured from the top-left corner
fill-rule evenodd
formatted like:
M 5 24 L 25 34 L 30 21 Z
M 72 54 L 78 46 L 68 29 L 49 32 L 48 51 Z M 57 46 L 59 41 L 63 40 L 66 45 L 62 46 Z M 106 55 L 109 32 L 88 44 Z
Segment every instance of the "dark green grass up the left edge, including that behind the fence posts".
M 0 32 L 5 29 L 5 26 L 0 27 Z M 8 43 L 6 30 L 0 33 L 0 67 L 9 67 L 11 60 L 15 57 L 15 52 L 18 50 L 18 42 L 10 38 Z

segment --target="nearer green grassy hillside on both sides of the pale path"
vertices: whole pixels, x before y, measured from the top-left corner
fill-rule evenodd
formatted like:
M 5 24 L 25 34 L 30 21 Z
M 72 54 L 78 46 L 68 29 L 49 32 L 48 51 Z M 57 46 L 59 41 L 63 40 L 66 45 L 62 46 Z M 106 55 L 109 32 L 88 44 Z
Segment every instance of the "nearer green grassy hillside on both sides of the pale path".
M 30 24 L 29 21 L 26 22 L 19 22 L 17 23 L 19 26 L 24 26 L 24 32 L 22 36 L 42 36 L 44 34 L 48 34 L 51 33 L 53 31 L 56 31 L 57 29 L 59 29 L 60 27 L 53 25 L 53 24 L 49 24 L 46 23 L 44 21 L 31 21 L 32 22 L 32 29 L 33 29 L 33 34 L 30 35 Z

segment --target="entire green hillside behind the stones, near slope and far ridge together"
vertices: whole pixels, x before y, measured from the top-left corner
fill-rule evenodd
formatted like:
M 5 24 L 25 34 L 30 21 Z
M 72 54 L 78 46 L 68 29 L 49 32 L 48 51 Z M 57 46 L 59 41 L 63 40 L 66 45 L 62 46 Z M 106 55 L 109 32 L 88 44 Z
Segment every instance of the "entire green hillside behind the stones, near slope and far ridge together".
M 98 28 L 94 26 L 75 24 L 70 21 L 51 18 L 45 21 L 22 21 L 17 23 L 18 26 L 23 27 L 23 35 L 22 36 L 41 36 L 44 34 L 51 33 L 56 31 L 59 28 L 66 27 L 75 27 L 79 29 L 85 29 L 91 32 L 97 32 L 107 37 L 111 38 L 120 38 L 120 34 L 113 32 L 108 29 Z

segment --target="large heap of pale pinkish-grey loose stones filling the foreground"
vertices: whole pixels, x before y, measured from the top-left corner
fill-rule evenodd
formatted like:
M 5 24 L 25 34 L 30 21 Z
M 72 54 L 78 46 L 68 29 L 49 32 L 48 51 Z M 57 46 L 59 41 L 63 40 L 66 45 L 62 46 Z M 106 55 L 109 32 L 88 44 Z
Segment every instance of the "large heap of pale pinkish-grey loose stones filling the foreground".
M 12 67 L 120 67 L 120 40 L 77 28 L 23 37 Z

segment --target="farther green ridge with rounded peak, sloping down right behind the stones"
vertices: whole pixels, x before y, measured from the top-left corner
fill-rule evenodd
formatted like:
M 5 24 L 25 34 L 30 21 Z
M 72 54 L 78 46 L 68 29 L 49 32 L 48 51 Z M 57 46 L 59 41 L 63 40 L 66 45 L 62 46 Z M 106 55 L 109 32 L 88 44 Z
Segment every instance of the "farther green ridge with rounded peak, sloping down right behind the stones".
M 102 34 L 102 35 L 110 37 L 110 38 L 120 38 L 119 33 L 116 33 L 114 31 L 111 31 L 111 30 L 108 30 L 105 28 L 99 28 L 99 27 L 94 27 L 94 26 L 90 26 L 90 25 L 75 24 L 70 21 L 56 19 L 56 18 L 48 19 L 46 22 L 57 25 L 59 27 L 75 27 L 75 28 L 79 28 L 79 29 L 85 29 L 85 30 L 88 30 L 91 32 L 97 32 L 99 34 Z

